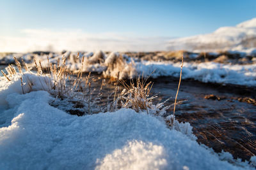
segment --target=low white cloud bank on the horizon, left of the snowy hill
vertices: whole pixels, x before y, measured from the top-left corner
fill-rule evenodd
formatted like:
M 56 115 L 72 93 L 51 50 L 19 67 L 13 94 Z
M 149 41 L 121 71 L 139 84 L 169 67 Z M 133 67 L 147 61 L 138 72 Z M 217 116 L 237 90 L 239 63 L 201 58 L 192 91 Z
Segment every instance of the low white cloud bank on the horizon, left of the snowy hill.
M 143 37 L 126 33 L 88 33 L 77 30 L 24 29 L 20 36 L 0 36 L 0 52 L 36 50 L 154 51 L 166 50 L 168 37 Z

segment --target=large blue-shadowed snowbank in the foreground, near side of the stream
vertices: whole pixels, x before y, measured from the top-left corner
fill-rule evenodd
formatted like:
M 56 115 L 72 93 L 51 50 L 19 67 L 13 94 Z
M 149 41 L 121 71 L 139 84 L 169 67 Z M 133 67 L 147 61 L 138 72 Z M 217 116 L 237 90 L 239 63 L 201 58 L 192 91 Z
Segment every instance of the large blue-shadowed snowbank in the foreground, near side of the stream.
M 253 169 L 168 129 L 161 117 L 131 109 L 77 117 L 52 107 L 37 78 L 26 94 L 19 75 L 12 80 L 0 79 L 1 169 Z

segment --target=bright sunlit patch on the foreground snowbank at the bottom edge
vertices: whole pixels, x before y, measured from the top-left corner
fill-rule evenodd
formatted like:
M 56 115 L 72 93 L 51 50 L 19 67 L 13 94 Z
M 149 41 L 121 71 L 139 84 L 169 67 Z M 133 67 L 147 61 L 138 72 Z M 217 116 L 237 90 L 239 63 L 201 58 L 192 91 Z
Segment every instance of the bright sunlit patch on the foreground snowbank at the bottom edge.
M 95 169 L 166 169 L 168 166 L 163 146 L 130 141 L 122 149 L 116 149 L 99 161 Z

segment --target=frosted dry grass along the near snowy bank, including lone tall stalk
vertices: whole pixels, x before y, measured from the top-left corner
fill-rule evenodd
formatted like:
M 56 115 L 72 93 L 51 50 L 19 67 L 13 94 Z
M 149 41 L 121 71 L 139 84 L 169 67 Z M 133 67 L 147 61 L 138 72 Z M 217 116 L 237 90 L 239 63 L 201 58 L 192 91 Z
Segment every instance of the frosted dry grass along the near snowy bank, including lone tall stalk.
M 22 88 L 22 93 L 24 94 L 26 93 L 24 91 L 24 85 L 28 85 L 30 89 L 32 89 L 33 86 L 33 82 L 30 81 L 29 78 L 26 77 L 26 75 L 28 73 L 33 73 L 31 73 L 28 65 L 22 60 L 22 65 L 26 70 L 26 74 L 24 74 L 24 69 L 22 69 L 19 60 L 17 60 L 16 58 L 14 59 L 17 69 L 20 73 L 20 86 Z M 124 69 L 124 59 L 122 56 L 118 57 L 117 55 L 113 56 L 111 59 L 113 59 L 113 62 L 109 62 L 109 69 L 115 69 L 116 67 L 118 67 L 118 69 L 115 70 L 117 71 L 116 87 L 113 93 L 110 94 L 110 96 L 113 97 L 113 101 L 108 101 L 108 106 L 106 107 L 106 109 L 100 108 L 100 111 L 115 111 L 118 107 L 122 107 L 132 108 L 137 112 L 147 111 L 147 113 L 160 114 L 163 113 L 161 111 L 165 111 L 170 108 L 171 105 L 163 108 L 163 104 L 166 101 L 164 101 L 164 103 L 156 105 L 153 103 L 153 100 L 157 96 L 150 96 L 150 90 L 153 86 L 152 81 L 147 83 L 147 80 L 150 76 L 148 76 L 147 78 L 143 78 L 142 75 L 141 78 L 136 78 L 135 82 L 131 80 L 130 83 L 126 83 L 124 80 L 119 80 L 120 74 L 122 74 L 119 70 Z M 77 53 L 77 60 L 79 60 L 79 53 Z M 56 64 L 52 64 L 51 62 L 49 62 L 48 57 L 47 66 L 44 67 L 42 66 L 42 62 L 40 60 L 34 60 L 36 74 L 38 78 L 38 80 L 36 81 L 41 84 L 43 90 L 49 92 L 52 96 L 56 97 L 56 99 L 76 99 L 77 103 L 79 103 L 77 105 L 80 106 L 82 103 L 83 106 L 86 106 L 86 110 L 84 110 L 84 113 L 92 114 L 95 113 L 95 111 L 93 111 L 93 108 L 99 107 L 97 106 L 97 104 L 100 103 L 102 96 L 102 87 L 105 85 L 106 82 L 102 80 L 102 85 L 99 90 L 92 89 L 91 83 L 93 81 L 93 77 L 91 76 L 91 74 L 89 73 L 86 77 L 83 76 L 84 57 L 79 60 L 79 62 L 81 62 L 81 67 L 79 68 L 79 71 L 76 71 L 77 74 L 74 74 L 68 70 L 66 65 L 66 58 L 64 56 L 62 57 L 62 59 L 59 58 Z M 177 89 L 173 108 L 173 115 L 175 115 L 175 107 L 177 103 L 177 96 L 179 93 L 182 75 L 182 66 L 183 56 L 180 69 L 179 86 Z M 8 81 L 12 81 L 11 77 L 15 74 L 18 74 L 15 67 L 13 67 L 12 65 L 6 67 L 6 71 L 8 74 L 5 74 L 3 71 L 1 72 Z M 26 82 L 24 82 L 24 80 L 26 80 Z M 124 87 L 124 90 L 122 92 L 119 92 L 120 87 L 118 86 L 118 83 L 120 83 Z M 96 97 L 95 95 L 92 95 L 95 94 L 95 91 L 96 93 L 98 92 L 98 95 Z

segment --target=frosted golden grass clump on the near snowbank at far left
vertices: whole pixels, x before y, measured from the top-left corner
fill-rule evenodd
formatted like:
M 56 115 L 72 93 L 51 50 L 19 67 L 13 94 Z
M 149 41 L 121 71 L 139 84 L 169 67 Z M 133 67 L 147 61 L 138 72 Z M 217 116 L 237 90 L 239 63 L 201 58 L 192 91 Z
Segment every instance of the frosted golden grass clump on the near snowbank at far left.
M 79 53 L 77 54 L 77 58 L 79 56 Z M 22 65 L 24 66 L 24 69 L 26 70 L 26 74 L 23 73 L 21 64 L 19 60 L 17 60 L 15 57 L 15 64 L 17 69 L 19 70 L 19 73 L 16 71 L 15 67 L 12 65 L 9 65 L 6 67 L 6 73 L 4 71 L 1 71 L 1 73 L 4 75 L 6 80 L 12 81 L 12 76 L 20 76 L 20 86 L 22 89 L 22 93 L 24 94 L 24 85 L 28 85 L 30 90 L 28 92 L 31 92 L 33 83 L 35 81 L 40 84 L 42 90 L 45 90 L 49 92 L 52 96 L 59 98 L 59 99 L 76 99 L 78 103 L 84 103 L 84 105 L 88 106 L 88 112 L 89 114 L 92 113 L 91 107 L 96 102 L 92 99 L 92 92 L 91 89 L 91 81 L 92 77 L 90 76 L 90 73 L 88 76 L 83 77 L 83 59 L 80 60 L 81 68 L 79 69 L 79 72 L 77 74 L 71 73 L 67 69 L 66 65 L 66 58 L 63 56 L 62 59 L 58 59 L 57 64 L 52 64 L 49 62 L 48 57 L 48 66 L 42 66 L 42 62 L 34 60 L 34 64 L 36 67 L 36 75 L 35 73 L 32 73 L 30 69 L 28 68 L 28 65 L 24 63 L 22 60 Z M 43 69 L 46 68 L 46 69 Z M 35 80 L 31 80 L 31 76 L 34 75 Z M 26 80 L 26 82 L 24 82 Z M 103 83 L 102 83 L 103 85 Z M 102 95 L 101 93 L 102 88 L 100 89 L 99 96 L 97 99 Z M 26 92 L 27 92 L 26 91 Z

